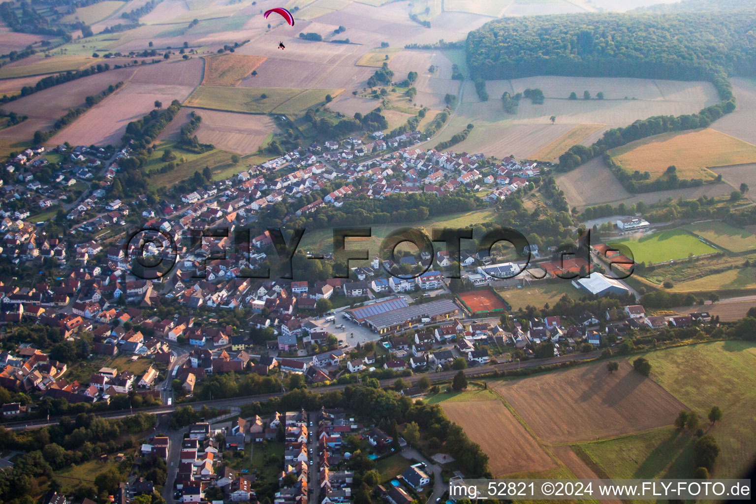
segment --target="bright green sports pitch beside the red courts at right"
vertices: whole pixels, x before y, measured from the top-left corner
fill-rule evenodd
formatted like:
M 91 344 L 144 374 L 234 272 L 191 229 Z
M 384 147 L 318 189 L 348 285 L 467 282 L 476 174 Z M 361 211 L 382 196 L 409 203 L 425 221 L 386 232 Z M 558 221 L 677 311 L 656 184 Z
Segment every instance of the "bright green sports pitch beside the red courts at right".
M 617 243 L 631 249 L 636 262 L 645 262 L 646 264 L 682 259 L 690 254 L 703 255 L 717 252 L 714 247 L 708 246 L 691 234 L 677 229 L 652 233 L 640 238 L 615 240 L 610 242 L 609 245 Z

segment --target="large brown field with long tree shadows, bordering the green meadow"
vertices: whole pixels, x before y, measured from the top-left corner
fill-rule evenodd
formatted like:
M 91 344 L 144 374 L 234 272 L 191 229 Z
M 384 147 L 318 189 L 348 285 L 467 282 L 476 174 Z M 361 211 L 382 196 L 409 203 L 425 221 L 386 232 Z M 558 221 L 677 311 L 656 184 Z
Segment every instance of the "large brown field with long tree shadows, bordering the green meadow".
M 550 443 L 606 438 L 674 422 L 683 404 L 637 373 L 627 360 L 619 365 L 615 373 L 606 370 L 606 363 L 596 363 L 513 382 L 491 382 L 491 387 L 538 438 Z

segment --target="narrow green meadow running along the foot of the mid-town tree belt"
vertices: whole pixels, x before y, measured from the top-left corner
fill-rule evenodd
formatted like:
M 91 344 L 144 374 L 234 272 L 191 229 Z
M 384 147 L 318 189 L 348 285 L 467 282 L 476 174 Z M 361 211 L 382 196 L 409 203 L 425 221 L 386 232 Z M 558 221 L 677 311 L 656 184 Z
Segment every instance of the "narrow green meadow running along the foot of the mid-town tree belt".
M 476 210 L 474 212 L 460 212 L 456 214 L 439 215 L 436 218 L 426 219 L 425 221 L 398 222 L 395 224 L 380 224 L 371 226 L 372 236 L 370 238 L 349 238 L 346 242 L 347 249 L 368 249 L 370 257 L 379 255 L 380 244 L 383 239 L 400 227 L 413 227 L 420 229 L 430 236 L 432 227 L 470 227 L 480 222 L 490 222 L 493 220 L 495 211 L 492 209 Z M 302 237 L 302 243 L 299 244 L 302 250 L 311 252 L 333 252 L 333 230 L 330 227 L 320 230 L 309 230 Z M 352 263 L 355 264 L 355 263 Z

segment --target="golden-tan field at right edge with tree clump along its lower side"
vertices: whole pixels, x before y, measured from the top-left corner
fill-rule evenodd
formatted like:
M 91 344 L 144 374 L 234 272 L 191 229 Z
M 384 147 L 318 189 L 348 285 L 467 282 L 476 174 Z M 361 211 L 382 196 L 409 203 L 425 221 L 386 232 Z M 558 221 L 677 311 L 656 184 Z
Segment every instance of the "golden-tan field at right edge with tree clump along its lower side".
M 756 145 L 711 128 L 654 135 L 608 152 L 626 172 L 649 172 L 652 179 L 670 165 L 680 178 L 706 181 L 716 177 L 709 167 L 756 162 Z

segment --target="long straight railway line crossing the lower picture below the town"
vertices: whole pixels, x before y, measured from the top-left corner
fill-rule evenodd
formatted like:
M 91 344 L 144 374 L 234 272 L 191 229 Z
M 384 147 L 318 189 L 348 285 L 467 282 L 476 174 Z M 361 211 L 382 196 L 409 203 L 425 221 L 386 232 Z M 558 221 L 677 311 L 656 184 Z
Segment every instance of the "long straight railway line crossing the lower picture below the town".
M 468 369 L 464 369 L 464 373 L 466 376 L 479 376 L 486 373 L 492 373 L 495 371 L 506 371 L 511 369 L 519 369 L 519 368 L 525 368 L 525 367 L 535 367 L 535 366 L 545 366 L 548 364 L 553 363 L 561 363 L 561 362 L 569 362 L 571 360 L 590 360 L 595 359 L 600 356 L 600 351 L 591 351 L 587 354 L 569 354 L 569 355 L 562 355 L 559 357 L 552 357 L 550 359 L 534 359 L 534 360 L 525 360 L 525 362 L 519 362 L 519 363 L 502 363 L 502 364 L 494 364 L 492 366 L 476 366 L 471 367 Z M 446 380 L 451 380 L 454 378 L 454 375 L 457 374 L 457 371 L 440 371 L 438 373 L 418 373 L 412 376 L 403 376 L 402 379 L 404 379 L 404 382 L 414 384 L 420 378 L 423 376 L 427 376 L 431 382 L 444 382 Z M 383 379 L 380 380 L 380 385 L 383 388 L 391 388 L 394 385 L 394 382 L 396 379 Z M 347 385 L 327 385 L 324 387 L 317 387 L 317 388 L 311 388 L 309 390 L 318 392 L 318 393 L 324 393 L 329 391 L 340 391 L 344 390 Z M 98 416 L 101 416 L 102 418 L 122 418 L 124 416 L 131 416 L 134 413 L 152 413 L 152 414 L 162 414 L 162 413 L 172 413 L 173 410 L 176 409 L 177 406 L 191 406 L 195 410 L 199 410 L 203 406 L 206 407 L 215 407 L 219 409 L 225 409 L 225 408 L 231 408 L 231 407 L 238 407 L 240 404 L 249 404 L 254 401 L 266 401 L 268 399 L 271 399 L 273 397 L 280 397 L 285 392 L 276 392 L 274 394 L 259 394 L 259 395 L 248 395 L 243 397 L 229 397 L 228 399 L 212 399 L 212 400 L 203 400 L 203 401 L 194 401 L 191 403 L 184 403 L 184 404 L 172 404 L 171 406 L 163 405 L 163 406 L 153 406 L 153 407 L 146 407 L 146 408 L 137 408 L 135 410 L 116 410 L 116 411 L 103 411 L 97 413 Z M 60 416 L 51 416 L 50 419 L 39 419 L 39 420 L 29 420 L 29 421 L 20 421 L 20 422 L 5 422 L 0 425 L 3 425 L 5 428 L 10 430 L 17 430 L 17 431 L 23 431 L 27 428 L 38 428 L 38 427 L 45 427 L 47 425 L 57 425 L 57 423 L 60 422 Z

